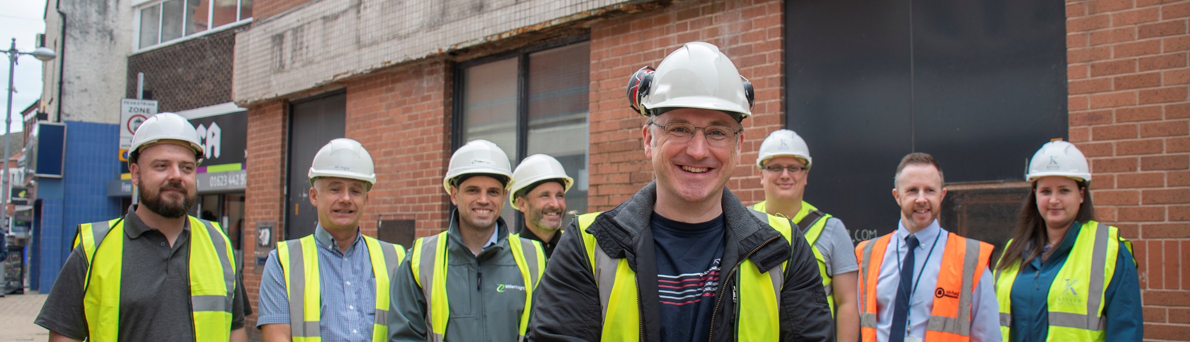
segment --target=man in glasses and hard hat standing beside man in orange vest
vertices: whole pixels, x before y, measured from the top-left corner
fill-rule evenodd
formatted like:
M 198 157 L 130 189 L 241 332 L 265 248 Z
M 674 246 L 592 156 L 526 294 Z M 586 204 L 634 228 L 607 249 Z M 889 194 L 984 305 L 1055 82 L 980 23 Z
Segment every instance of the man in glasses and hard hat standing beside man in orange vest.
M 856 246 L 843 221 L 807 203 L 810 148 L 794 131 L 777 129 L 760 142 L 756 167 L 760 169 L 764 201 L 752 209 L 790 217 L 814 249 L 826 299 L 835 317 L 839 341 L 859 338 L 859 306 L 856 304 Z

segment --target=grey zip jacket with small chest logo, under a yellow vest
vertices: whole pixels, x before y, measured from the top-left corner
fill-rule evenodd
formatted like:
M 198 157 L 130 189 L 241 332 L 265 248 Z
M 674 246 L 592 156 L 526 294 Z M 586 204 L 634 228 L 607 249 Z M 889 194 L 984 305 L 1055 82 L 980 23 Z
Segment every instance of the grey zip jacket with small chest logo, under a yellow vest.
M 480 252 L 463 245 L 457 222 L 458 210 L 451 213 L 446 240 L 447 273 L 446 299 L 450 303 L 450 319 L 446 321 L 445 341 L 516 341 L 521 311 L 525 308 L 525 280 L 508 246 L 508 239 L 521 239 L 508 234 L 503 218 L 496 220 L 497 242 Z M 422 238 L 424 239 L 424 238 Z M 525 243 L 532 243 L 527 240 Z M 422 246 L 422 248 L 433 246 Z M 540 248 L 540 247 L 538 247 Z M 427 341 L 430 327 L 426 324 L 428 310 L 421 286 L 413 278 L 409 266 L 412 255 L 419 249 L 409 249 L 411 256 L 393 274 L 392 299 L 388 314 L 388 341 Z M 422 280 L 425 281 L 425 280 Z

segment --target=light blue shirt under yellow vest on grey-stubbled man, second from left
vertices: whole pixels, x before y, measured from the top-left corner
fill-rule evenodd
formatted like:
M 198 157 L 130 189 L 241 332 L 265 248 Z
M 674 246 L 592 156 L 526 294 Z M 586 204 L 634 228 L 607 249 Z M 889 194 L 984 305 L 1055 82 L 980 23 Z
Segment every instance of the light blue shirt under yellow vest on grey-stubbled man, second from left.
M 321 285 L 319 332 L 322 341 L 371 341 L 376 318 L 376 277 L 372 276 L 368 246 L 356 230 L 356 242 L 340 253 L 334 238 L 319 224 L 314 229 L 318 245 L 318 274 Z M 256 327 L 289 324 L 289 299 L 286 279 L 277 262 L 277 251 L 269 252 L 269 261 L 261 277 L 261 315 Z

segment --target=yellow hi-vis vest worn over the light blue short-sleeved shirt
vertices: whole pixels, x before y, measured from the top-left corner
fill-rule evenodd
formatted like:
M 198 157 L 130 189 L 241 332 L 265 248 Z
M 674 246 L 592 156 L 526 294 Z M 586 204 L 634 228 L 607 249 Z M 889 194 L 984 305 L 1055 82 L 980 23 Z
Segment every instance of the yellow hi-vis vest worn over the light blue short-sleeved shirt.
M 363 236 L 364 245 L 368 246 L 372 276 L 376 277 L 376 319 L 372 322 L 372 341 L 388 341 L 389 274 L 396 273 L 396 266 L 405 260 L 405 248 L 368 235 L 359 236 Z M 286 278 L 286 297 L 289 298 L 290 337 L 294 342 L 322 341 L 319 329 L 322 287 L 318 270 L 318 242 L 314 241 L 314 235 L 278 243 L 277 261 L 281 261 L 281 271 Z

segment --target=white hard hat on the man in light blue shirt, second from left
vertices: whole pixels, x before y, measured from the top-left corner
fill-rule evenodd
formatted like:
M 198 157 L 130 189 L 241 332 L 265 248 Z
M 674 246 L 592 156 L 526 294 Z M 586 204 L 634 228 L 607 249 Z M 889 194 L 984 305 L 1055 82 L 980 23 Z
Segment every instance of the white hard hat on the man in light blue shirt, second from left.
M 371 153 L 359 141 L 339 138 L 326 142 L 309 165 L 309 184 L 314 185 L 318 177 L 339 177 L 359 179 L 368 183 L 368 190 L 376 184 L 376 167 Z

